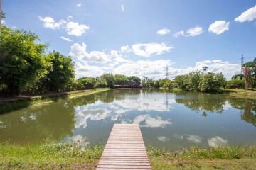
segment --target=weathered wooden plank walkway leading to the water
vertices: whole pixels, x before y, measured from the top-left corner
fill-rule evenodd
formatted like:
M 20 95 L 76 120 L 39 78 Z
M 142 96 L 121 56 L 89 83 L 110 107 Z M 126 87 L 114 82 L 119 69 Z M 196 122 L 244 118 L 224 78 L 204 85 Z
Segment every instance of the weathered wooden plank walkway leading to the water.
M 151 169 L 137 124 L 114 124 L 97 170 Z

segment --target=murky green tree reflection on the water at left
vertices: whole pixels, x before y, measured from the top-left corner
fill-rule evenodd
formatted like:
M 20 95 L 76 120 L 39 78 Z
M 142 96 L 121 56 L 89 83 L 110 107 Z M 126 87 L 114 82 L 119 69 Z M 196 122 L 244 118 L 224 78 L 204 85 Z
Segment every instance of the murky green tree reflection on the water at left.
M 114 93 L 109 91 L 72 100 L 60 99 L 47 105 L 0 115 L 0 141 L 33 143 L 60 141 L 65 137 L 72 137 L 75 107 L 95 103 L 97 100 L 110 103 L 114 100 Z

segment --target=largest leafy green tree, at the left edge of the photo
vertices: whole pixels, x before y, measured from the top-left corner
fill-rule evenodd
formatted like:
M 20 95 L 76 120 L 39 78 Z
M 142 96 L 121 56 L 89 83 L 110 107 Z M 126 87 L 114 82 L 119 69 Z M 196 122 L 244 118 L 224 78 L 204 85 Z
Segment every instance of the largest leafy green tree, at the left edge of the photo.
M 1 26 L 0 86 L 6 95 L 19 94 L 47 74 L 46 45 L 38 41 L 31 32 Z

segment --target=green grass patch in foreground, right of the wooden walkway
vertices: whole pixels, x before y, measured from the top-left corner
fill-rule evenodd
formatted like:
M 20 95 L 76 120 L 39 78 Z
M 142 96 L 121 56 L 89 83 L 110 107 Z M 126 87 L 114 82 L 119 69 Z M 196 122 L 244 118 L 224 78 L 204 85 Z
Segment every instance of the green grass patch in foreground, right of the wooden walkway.
M 178 152 L 149 147 L 152 169 L 255 169 L 256 147 L 192 147 Z

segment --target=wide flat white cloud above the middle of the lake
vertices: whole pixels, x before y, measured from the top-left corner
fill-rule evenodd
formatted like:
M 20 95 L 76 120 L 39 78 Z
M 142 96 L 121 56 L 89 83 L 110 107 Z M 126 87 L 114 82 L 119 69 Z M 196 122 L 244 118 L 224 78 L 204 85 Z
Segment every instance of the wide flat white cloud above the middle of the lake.
M 142 57 L 150 57 L 151 55 L 162 55 L 165 52 L 169 52 L 173 48 L 172 45 L 166 45 L 165 43 L 147 43 L 147 44 L 134 44 L 132 50 L 135 55 Z

